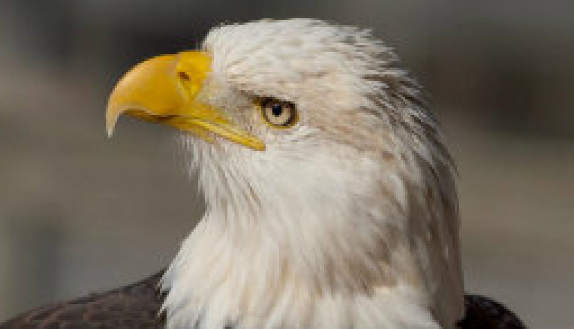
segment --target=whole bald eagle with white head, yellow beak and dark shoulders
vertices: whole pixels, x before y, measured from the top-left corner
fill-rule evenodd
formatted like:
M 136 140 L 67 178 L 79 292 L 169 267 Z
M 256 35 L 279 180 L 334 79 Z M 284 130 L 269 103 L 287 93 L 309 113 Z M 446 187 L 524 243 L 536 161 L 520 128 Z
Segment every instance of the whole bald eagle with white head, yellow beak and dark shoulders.
M 121 114 L 183 131 L 203 218 L 165 271 L 0 328 L 523 328 L 464 296 L 453 161 L 369 30 L 219 26 L 127 72 Z

